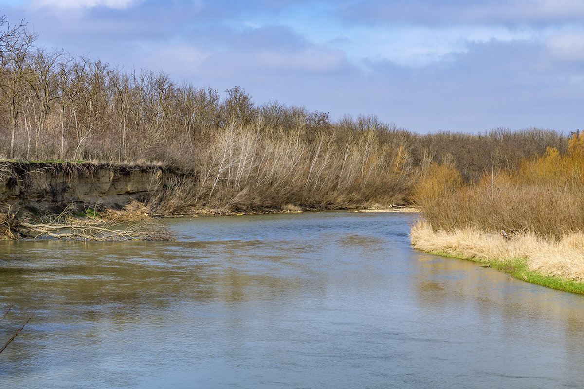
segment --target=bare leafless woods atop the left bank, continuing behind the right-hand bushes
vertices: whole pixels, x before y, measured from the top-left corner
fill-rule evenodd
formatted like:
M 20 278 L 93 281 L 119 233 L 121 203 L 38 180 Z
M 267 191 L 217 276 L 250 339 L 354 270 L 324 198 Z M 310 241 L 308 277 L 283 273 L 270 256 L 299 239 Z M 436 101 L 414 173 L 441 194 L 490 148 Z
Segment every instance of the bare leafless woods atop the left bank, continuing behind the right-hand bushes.
M 477 181 L 548 147 L 566 150 L 564 136 L 548 130 L 419 135 L 373 116 L 331 120 L 278 101 L 256 104 L 239 86 L 220 94 L 35 40 L 23 24 L 0 35 L 0 158 L 180 167 L 191 178 L 161 194 L 166 211 L 404 204 L 432 163 Z

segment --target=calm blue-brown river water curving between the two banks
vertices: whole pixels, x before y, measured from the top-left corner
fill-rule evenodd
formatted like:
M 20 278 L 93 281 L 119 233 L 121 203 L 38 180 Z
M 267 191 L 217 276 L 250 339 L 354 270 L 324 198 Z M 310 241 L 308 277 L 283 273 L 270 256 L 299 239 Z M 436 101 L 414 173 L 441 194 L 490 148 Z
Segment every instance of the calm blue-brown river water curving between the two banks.
M 415 215 L 0 242 L 1 388 L 584 387 L 584 296 L 412 250 Z

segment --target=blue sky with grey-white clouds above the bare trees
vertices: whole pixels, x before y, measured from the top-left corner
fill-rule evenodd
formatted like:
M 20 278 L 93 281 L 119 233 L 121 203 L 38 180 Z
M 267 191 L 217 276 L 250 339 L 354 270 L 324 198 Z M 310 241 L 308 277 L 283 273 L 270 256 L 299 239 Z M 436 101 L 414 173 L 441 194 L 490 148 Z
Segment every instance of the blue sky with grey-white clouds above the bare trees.
M 0 0 L 37 44 L 419 133 L 584 129 L 584 0 Z

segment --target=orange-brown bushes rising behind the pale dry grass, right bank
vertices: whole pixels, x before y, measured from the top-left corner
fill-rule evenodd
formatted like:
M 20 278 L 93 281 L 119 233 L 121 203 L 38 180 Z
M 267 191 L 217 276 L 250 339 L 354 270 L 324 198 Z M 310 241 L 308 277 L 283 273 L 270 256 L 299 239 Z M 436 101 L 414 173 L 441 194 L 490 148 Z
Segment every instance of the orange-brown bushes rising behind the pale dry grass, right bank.
M 559 239 L 584 230 L 584 133 L 573 134 L 561 155 L 523 161 L 516 171 L 492 171 L 477 184 L 422 202 L 434 229 L 530 232 Z

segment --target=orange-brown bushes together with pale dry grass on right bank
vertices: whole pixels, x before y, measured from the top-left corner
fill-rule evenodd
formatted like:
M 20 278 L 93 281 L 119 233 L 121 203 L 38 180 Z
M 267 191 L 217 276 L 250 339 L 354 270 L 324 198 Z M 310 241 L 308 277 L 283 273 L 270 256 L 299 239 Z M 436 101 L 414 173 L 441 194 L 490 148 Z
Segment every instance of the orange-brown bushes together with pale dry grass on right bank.
M 427 174 L 416 192 L 424 220 L 413 226 L 412 244 L 496 261 L 510 271 L 521 260 L 528 271 L 563 280 L 558 289 L 577 281 L 568 289 L 584 293 L 583 165 L 584 132 L 578 131 L 566 140 L 565 152 L 548 148 L 516 169 L 487 171 L 472 184 L 463 183 L 452 166 L 432 166 L 438 173 Z

